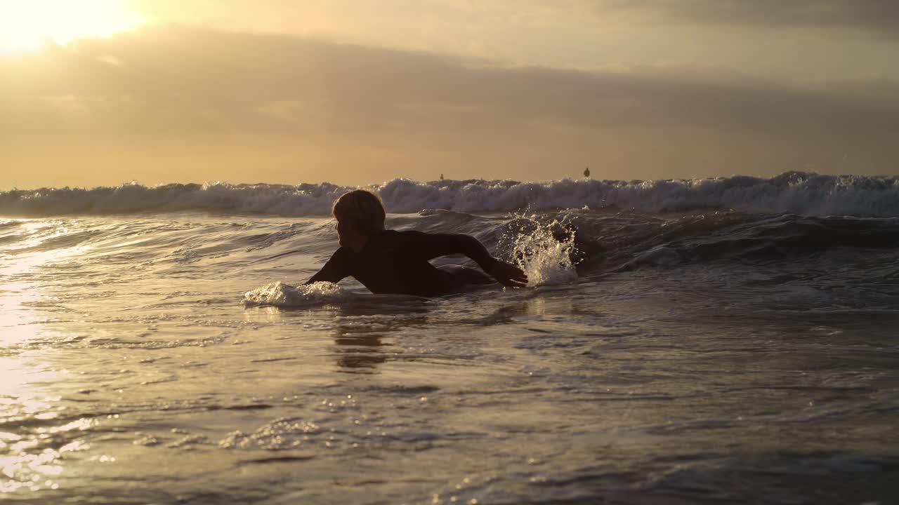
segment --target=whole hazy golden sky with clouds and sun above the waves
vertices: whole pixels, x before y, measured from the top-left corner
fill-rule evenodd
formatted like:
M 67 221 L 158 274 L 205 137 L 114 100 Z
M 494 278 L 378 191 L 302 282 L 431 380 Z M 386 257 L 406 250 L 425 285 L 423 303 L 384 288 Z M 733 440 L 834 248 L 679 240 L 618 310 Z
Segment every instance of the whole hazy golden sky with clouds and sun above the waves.
M 0 0 L 0 189 L 899 174 L 893 0 Z

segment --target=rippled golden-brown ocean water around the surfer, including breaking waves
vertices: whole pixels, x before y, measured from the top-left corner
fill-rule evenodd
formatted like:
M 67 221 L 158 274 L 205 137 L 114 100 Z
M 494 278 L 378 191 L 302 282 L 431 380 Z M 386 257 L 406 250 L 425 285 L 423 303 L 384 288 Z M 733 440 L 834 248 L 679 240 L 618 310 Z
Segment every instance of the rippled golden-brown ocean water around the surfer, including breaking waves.
M 899 178 L 378 185 L 531 280 L 436 298 L 302 286 L 348 189 L 0 192 L 0 500 L 899 502 Z

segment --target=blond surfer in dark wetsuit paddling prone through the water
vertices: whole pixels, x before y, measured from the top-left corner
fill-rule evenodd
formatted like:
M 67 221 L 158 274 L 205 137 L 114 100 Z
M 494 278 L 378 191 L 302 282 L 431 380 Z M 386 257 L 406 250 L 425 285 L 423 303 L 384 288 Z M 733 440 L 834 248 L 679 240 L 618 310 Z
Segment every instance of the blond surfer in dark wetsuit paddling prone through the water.
M 344 193 L 333 212 L 340 249 L 306 284 L 352 277 L 372 293 L 437 297 L 494 279 L 511 288 L 528 282 L 520 268 L 491 256 L 473 236 L 385 230 L 387 211 L 369 191 Z M 486 273 L 459 265 L 437 268 L 429 262 L 447 254 L 465 254 Z

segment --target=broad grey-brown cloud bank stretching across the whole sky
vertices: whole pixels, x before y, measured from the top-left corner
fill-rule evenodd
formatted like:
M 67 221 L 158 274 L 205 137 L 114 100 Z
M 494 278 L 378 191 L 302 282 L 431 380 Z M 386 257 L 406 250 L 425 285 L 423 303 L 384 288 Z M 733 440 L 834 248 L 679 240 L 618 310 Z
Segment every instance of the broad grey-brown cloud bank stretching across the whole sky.
M 883 133 L 899 84 L 695 68 L 584 72 L 180 27 L 0 59 L 0 130 L 419 134 L 541 125 Z

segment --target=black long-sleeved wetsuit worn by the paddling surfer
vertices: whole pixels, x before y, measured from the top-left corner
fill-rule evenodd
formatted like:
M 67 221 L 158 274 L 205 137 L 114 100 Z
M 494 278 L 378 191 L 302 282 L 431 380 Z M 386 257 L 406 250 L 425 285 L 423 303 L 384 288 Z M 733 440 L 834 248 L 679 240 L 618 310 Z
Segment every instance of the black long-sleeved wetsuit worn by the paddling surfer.
M 359 253 L 349 247 L 338 249 L 307 284 L 354 277 L 372 293 L 435 297 L 467 285 L 494 281 L 477 270 L 444 270 L 428 262 L 438 256 L 459 253 L 476 261 L 484 271 L 493 269 L 496 261 L 472 236 L 387 230 L 370 236 Z

